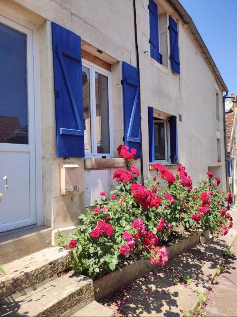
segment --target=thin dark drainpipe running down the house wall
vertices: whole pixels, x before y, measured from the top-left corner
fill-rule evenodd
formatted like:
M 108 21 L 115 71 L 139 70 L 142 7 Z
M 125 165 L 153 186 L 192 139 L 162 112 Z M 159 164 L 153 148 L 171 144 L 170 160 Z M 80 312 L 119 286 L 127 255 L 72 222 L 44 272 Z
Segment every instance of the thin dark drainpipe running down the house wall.
M 144 184 L 144 171 L 143 171 L 143 155 L 142 155 L 142 115 L 141 115 L 141 85 L 140 85 L 140 66 L 139 66 L 139 52 L 137 42 L 137 14 L 136 14 L 136 0 L 133 0 L 133 16 L 134 16 L 134 32 L 135 32 L 135 48 L 136 48 L 136 59 L 138 69 L 138 80 L 139 80 L 139 115 L 140 115 L 140 138 L 141 138 L 141 179 L 142 185 Z

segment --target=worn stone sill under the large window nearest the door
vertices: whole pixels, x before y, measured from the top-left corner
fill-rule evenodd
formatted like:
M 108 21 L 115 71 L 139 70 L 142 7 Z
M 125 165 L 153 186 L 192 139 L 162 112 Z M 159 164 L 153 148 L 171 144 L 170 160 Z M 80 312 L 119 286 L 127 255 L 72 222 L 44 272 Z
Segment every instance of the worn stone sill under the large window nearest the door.
M 84 169 L 110 169 L 124 167 L 124 159 L 84 159 Z

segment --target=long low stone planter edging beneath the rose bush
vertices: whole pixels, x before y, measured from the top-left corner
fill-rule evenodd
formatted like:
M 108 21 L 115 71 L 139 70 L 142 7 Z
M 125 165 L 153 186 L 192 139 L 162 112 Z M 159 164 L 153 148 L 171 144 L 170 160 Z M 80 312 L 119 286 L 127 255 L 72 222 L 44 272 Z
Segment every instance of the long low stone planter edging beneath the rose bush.
M 166 245 L 169 261 L 188 249 L 195 247 L 200 241 L 201 232 L 186 234 L 181 238 Z M 95 300 L 112 294 L 121 287 L 130 284 L 148 272 L 157 268 L 149 260 L 140 259 L 134 263 L 123 266 L 110 274 L 102 276 L 93 281 Z

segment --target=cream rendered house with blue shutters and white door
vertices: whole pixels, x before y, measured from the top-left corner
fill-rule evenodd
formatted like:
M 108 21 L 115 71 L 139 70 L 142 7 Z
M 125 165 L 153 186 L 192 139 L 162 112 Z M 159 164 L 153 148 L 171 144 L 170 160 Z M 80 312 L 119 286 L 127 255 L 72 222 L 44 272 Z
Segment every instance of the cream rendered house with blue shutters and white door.
M 76 225 L 124 142 L 144 179 L 156 160 L 226 189 L 228 89 L 178 0 L 135 2 L 137 32 L 132 0 L 0 1 L 1 233 Z

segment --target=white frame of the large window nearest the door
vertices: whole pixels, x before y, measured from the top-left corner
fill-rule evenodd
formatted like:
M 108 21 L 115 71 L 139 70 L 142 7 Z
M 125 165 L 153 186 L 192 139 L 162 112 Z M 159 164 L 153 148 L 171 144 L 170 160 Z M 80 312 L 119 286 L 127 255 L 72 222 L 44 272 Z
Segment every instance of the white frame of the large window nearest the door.
M 85 158 L 113 158 L 113 113 L 112 113 L 112 82 L 111 72 L 82 58 L 82 66 L 89 69 L 90 78 L 90 134 L 91 153 L 85 153 Z M 96 133 L 96 97 L 95 97 L 95 72 L 108 78 L 108 103 L 109 103 L 109 132 L 110 132 L 110 153 L 97 153 L 97 133 Z

